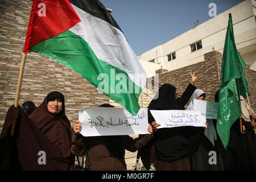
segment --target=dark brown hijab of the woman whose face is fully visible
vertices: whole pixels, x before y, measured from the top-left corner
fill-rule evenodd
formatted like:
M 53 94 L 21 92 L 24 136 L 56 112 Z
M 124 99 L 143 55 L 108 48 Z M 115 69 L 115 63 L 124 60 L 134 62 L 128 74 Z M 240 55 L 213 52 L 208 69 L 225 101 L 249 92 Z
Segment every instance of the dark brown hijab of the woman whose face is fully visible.
M 48 102 L 54 98 L 60 98 L 63 103 L 62 110 L 58 114 L 51 114 L 47 109 Z M 65 115 L 65 101 L 62 93 L 56 91 L 49 93 L 29 118 L 60 151 L 61 156 L 71 156 L 71 123 Z

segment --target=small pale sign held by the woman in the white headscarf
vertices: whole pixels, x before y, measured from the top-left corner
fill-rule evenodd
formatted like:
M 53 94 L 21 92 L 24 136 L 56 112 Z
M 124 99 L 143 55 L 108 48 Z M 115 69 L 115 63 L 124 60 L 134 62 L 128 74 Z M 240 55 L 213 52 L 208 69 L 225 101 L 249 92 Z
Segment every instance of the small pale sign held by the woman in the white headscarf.
M 207 119 L 217 119 L 218 102 L 194 100 L 194 110 L 200 110 Z

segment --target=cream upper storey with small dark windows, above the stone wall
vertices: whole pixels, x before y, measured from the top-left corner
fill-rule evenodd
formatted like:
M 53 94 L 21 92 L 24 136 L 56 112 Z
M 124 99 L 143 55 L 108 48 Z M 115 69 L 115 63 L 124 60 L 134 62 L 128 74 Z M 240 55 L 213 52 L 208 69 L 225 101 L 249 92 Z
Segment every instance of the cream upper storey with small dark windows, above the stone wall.
M 222 53 L 229 13 L 232 13 L 237 49 L 250 69 L 256 71 L 256 22 L 251 0 L 243 1 L 184 34 L 138 55 L 139 60 L 160 64 L 163 69 L 173 71 L 204 61 L 204 54 L 210 51 Z

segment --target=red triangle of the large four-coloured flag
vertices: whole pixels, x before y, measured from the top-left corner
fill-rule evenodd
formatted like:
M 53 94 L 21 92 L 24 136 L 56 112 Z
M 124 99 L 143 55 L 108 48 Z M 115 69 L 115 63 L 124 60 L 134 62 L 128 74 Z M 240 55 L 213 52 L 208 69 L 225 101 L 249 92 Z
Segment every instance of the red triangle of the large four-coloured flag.
M 43 8 L 40 3 L 46 7 L 46 16 L 39 16 Z M 29 52 L 35 44 L 67 31 L 78 22 L 81 20 L 69 0 L 34 0 L 23 52 Z

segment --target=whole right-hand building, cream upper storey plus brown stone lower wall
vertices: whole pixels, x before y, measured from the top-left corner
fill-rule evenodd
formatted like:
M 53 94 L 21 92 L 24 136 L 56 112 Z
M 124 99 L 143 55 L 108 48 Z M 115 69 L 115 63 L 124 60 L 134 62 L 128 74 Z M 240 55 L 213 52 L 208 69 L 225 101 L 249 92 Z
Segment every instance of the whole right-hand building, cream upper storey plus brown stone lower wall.
M 236 47 L 246 63 L 244 72 L 251 94 L 250 104 L 255 111 L 256 13 L 253 11 L 253 1 L 245 0 L 184 34 L 138 55 L 143 68 L 147 73 L 155 71 L 155 75 L 158 74 L 159 86 L 164 83 L 174 85 L 178 97 L 187 87 L 190 79 L 188 73 L 196 71 L 199 79 L 195 85 L 207 94 L 206 100 L 214 101 L 214 94 L 219 89 L 229 13 L 232 13 Z M 154 64 L 155 67 L 152 67 Z M 160 65 L 161 69 L 157 69 L 156 65 Z

